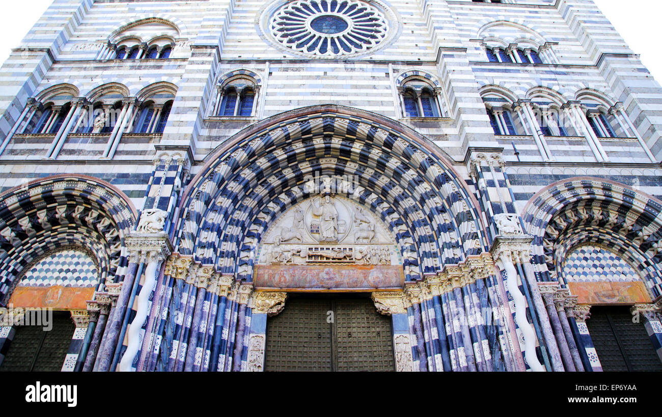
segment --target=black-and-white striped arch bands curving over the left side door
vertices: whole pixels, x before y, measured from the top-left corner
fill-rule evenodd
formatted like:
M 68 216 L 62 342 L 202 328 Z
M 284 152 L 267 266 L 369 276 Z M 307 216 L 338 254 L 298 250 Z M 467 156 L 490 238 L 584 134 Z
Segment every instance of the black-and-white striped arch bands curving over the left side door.
M 15 278 L 27 265 L 66 246 L 96 255 L 100 284 L 123 279 L 128 264 L 124 236 L 136 210 L 104 181 L 56 175 L 0 195 L 0 301 L 7 301 Z

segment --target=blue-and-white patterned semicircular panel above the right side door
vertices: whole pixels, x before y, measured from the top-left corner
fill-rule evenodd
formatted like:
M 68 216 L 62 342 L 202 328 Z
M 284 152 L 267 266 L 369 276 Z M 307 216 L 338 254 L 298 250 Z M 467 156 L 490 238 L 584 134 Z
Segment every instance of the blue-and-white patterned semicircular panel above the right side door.
M 640 279 L 630 264 L 618 255 L 594 245 L 575 248 L 565 258 L 563 277 L 567 282 L 628 282 Z

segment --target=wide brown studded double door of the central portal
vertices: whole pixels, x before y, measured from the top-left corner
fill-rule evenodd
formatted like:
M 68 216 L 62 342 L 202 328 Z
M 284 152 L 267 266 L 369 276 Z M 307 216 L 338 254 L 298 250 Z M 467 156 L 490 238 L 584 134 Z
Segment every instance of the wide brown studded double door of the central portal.
M 393 371 L 391 318 L 365 298 L 293 298 L 267 321 L 267 371 Z

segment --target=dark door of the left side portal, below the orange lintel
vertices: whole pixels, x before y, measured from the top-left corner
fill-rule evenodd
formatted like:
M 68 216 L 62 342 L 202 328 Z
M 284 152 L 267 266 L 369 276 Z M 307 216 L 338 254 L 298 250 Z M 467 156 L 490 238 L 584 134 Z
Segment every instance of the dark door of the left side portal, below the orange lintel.
M 52 325 L 48 331 L 43 326 L 18 326 L 0 371 L 60 371 L 75 326 L 69 312 L 54 312 Z

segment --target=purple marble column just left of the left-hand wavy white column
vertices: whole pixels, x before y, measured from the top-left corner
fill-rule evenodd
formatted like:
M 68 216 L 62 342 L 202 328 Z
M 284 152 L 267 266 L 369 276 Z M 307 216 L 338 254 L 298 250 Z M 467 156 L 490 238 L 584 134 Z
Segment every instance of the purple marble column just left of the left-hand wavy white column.
M 115 353 L 115 347 L 118 343 L 117 338 L 119 337 L 122 320 L 124 319 L 124 312 L 126 312 L 126 304 L 128 304 L 128 300 L 131 297 L 133 283 L 136 279 L 136 269 L 138 269 L 138 263 L 134 262 L 129 263 L 126 268 L 122 291 L 117 299 L 117 306 L 113 310 L 112 316 L 109 316 L 109 323 L 103 335 L 103 349 L 99 351 L 94 365 L 95 371 L 107 372 L 111 367 L 113 353 Z

